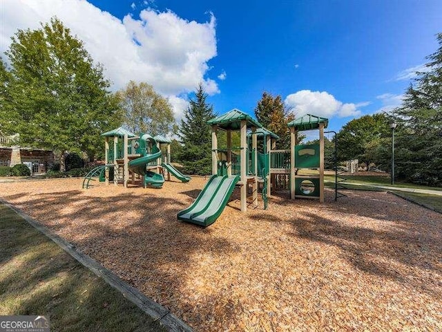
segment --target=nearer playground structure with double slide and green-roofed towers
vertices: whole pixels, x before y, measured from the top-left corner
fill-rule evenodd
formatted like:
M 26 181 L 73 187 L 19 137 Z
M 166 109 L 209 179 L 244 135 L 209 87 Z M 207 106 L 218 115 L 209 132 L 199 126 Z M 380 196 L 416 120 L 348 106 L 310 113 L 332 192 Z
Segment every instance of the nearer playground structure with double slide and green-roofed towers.
M 276 190 L 276 178 L 288 176 L 290 197 L 319 199 L 324 202 L 324 129 L 328 119 L 306 115 L 289 122 L 289 150 L 275 150 L 278 139 L 247 113 L 233 109 L 208 121 L 212 133 L 212 176 L 189 208 L 178 212 L 177 218 L 204 227 L 220 216 L 235 187 L 240 187 L 241 211 L 247 210 L 251 186 L 251 205 L 258 207 L 258 188 L 262 184 L 262 201 Z M 298 131 L 319 129 L 318 145 L 298 145 Z M 218 148 L 218 131 L 227 133 L 227 149 Z M 240 131 L 240 146 L 232 147 L 232 132 Z M 262 138 L 262 152 L 258 151 Z M 239 151 L 239 153 L 238 153 Z M 314 170 L 315 174 L 298 174 L 298 170 Z M 272 183 L 273 179 L 273 183 Z

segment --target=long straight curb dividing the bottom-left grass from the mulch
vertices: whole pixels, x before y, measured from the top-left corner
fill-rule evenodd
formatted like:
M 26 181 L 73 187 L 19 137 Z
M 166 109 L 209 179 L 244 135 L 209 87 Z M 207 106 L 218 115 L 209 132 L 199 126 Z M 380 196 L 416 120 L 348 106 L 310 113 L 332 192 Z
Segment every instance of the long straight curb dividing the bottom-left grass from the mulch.
M 117 277 L 117 275 L 99 264 L 98 261 L 95 261 L 95 259 L 85 255 L 83 252 L 75 248 L 73 244 L 62 239 L 44 225 L 41 225 L 38 221 L 25 214 L 19 208 L 16 208 L 1 198 L 0 203 L 6 205 L 11 210 L 14 210 L 17 214 L 19 214 L 19 216 L 21 216 L 21 218 L 25 219 L 30 225 L 39 230 L 39 232 L 45 234 L 46 237 L 57 243 L 57 245 L 60 246 L 64 251 L 68 252 L 69 255 L 79 261 L 81 265 L 91 270 L 93 273 L 95 273 L 95 275 L 102 277 L 107 284 L 111 285 L 117 291 L 122 293 L 126 299 L 133 302 L 133 304 L 138 306 L 142 311 L 144 311 L 144 313 L 151 316 L 155 322 L 160 322 L 168 331 L 193 331 L 190 326 L 180 320 L 180 318 L 177 316 L 173 315 L 173 313 L 164 308 L 164 306 L 161 306 L 160 304 L 157 304 L 157 302 L 153 301 L 153 299 L 146 297 L 143 293 L 138 291 L 137 288 L 134 288 L 124 282 L 122 279 Z

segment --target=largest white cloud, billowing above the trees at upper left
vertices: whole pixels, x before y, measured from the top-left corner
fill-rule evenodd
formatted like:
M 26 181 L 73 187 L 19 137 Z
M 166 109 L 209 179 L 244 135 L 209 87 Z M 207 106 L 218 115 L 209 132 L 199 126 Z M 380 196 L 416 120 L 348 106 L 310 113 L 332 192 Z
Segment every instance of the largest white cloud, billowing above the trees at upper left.
M 17 29 L 39 28 L 40 21 L 57 16 L 84 41 L 95 62 L 103 64 L 113 90 L 135 80 L 152 84 L 166 96 L 189 93 L 200 82 L 209 95 L 220 92 L 206 77 L 207 62 L 217 55 L 212 14 L 209 21 L 198 23 L 170 10 L 146 8 L 138 19 L 126 15 L 120 20 L 84 0 L 7 1 L 1 7 L 1 52 Z

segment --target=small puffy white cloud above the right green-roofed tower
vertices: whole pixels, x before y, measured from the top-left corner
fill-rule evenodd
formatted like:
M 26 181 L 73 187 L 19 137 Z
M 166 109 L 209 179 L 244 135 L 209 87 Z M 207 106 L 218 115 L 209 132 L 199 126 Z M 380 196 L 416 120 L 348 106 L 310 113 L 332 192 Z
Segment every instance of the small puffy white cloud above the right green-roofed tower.
M 309 113 L 315 116 L 323 116 L 325 118 L 332 118 L 333 116 L 347 118 L 350 116 L 361 115 L 359 108 L 365 107 L 370 103 L 360 102 L 358 104 L 344 104 L 343 102 L 336 100 L 333 95 L 326 91 L 301 90 L 287 95 L 287 98 L 285 98 L 285 104 L 297 117 Z

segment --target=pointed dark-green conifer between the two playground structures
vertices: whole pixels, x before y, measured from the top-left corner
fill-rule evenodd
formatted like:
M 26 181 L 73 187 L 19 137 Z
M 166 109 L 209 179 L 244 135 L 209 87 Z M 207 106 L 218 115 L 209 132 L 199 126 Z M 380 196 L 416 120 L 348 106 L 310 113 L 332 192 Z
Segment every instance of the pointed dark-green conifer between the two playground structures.
M 195 100 L 184 112 L 181 121 L 180 138 L 183 144 L 180 160 L 184 172 L 205 175 L 211 173 L 211 127 L 207 121 L 214 117 L 213 106 L 207 104 L 207 95 L 202 84 L 195 91 Z

